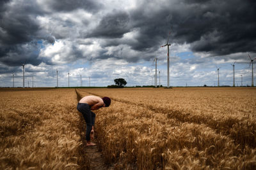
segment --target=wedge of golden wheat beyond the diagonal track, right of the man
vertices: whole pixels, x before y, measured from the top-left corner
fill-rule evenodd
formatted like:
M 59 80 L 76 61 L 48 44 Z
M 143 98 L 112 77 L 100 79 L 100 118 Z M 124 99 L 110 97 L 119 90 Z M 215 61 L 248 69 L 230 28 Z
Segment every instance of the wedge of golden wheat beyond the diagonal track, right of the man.
M 248 92 L 222 92 L 216 91 L 172 91 L 170 98 L 166 89 L 161 90 L 125 90 L 120 93 L 116 90 L 97 90 L 98 95 L 105 94 L 116 101 L 143 106 L 156 113 L 167 114 L 181 122 L 205 124 L 217 132 L 230 135 L 235 143 L 251 148 L 256 147 L 256 93 Z M 95 89 L 90 91 L 91 94 Z M 240 92 L 240 94 L 239 94 Z M 253 92 L 253 91 L 252 91 Z M 150 94 L 151 93 L 151 94 Z M 245 93 L 245 94 L 244 94 Z M 253 96 L 254 95 L 254 96 Z M 154 97 L 152 97 L 154 96 Z M 212 96 L 216 99 L 212 99 Z M 236 97 L 239 96 L 239 97 Z M 148 100 L 150 99 L 150 100 Z M 241 101 L 241 102 L 240 102 Z

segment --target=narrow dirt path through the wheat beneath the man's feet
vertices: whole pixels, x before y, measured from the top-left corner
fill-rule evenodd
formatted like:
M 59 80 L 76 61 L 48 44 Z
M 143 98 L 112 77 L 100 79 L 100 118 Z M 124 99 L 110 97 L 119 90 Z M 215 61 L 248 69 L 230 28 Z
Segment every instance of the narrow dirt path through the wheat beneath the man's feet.
M 77 92 L 77 101 L 81 99 L 80 94 Z M 92 169 L 92 170 L 105 170 L 105 169 L 111 169 L 104 163 L 104 158 L 101 152 L 99 152 L 98 146 L 86 146 L 86 139 L 85 139 L 85 132 L 86 132 L 86 125 L 83 120 L 83 116 L 80 116 L 81 122 L 80 122 L 80 131 L 81 131 L 81 139 L 83 141 L 83 145 L 81 147 L 81 154 L 84 154 L 84 160 L 82 161 L 82 164 L 86 165 L 80 165 L 81 169 Z M 97 144 L 97 137 L 95 136 L 95 139 L 93 141 Z

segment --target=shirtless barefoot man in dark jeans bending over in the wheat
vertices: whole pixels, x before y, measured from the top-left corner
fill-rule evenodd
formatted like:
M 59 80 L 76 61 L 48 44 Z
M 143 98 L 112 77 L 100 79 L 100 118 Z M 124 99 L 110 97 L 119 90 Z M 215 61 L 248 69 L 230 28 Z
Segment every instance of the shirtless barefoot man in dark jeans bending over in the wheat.
M 77 110 L 82 113 L 86 122 L 86 146 L 95 146 L 91 139 L 94 138 L 93 126 L 95 123 L 95 113 L 91 110 L 99 110 L 111 104 L 109 97 L 85 96 L 77 104 Z

